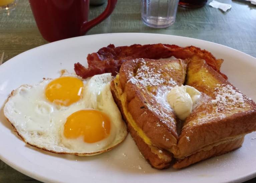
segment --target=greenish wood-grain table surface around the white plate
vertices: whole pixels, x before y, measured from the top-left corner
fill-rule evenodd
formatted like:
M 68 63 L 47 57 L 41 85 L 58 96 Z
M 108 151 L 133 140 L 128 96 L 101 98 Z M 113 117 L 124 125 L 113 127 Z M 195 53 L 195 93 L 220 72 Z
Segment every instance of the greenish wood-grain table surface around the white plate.
M 219 43 L 256 57 L 256 5 L 244 0 L 219 1 L 231 4 L 231 10 L 224 13 L 209 5 L 195 9 L 178 7 L 174 25 L 154 29 L 141 21 L 141 1 L 118 0 L 111 16 L 88 31 L 87 35 L 114 32 L 179 35 Z M 104 7 L 91 6 L 90 17 L 97 16 Z M 46 43 L 36 27 L 27 0 L 19 0 L 16 9 L 9 14 L 0 13 L 0 58 L 4 52 L 3 62 Z M 39 181 L 23 175 L 0 160 L 0 182 Z M 256 182 L 256 178 L 248 182 Z

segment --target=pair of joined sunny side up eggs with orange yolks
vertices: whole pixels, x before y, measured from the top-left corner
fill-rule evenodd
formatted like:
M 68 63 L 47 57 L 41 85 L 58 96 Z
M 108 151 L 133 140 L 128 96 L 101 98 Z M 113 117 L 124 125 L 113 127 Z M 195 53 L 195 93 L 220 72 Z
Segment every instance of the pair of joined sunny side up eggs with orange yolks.
M 110 73 L 82 80 L 64 72 L 54 80 L 22 85 L 11 93 L 4 115 L 29 145 L 54 153 L 100 154 L 127 135 L 111 80 Z

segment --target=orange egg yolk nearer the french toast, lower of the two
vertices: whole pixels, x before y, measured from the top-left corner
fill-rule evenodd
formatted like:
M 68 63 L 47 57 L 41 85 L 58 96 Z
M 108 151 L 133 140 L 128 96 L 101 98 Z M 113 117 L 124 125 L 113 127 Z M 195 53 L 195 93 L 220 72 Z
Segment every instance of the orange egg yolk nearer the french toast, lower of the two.
M 108 116 L 96 110 L 80 110 L 67 117 L 64 125 L 66 138 L 83 136 L 84 142 L 94 143 L 106 138 L 110 131 Z

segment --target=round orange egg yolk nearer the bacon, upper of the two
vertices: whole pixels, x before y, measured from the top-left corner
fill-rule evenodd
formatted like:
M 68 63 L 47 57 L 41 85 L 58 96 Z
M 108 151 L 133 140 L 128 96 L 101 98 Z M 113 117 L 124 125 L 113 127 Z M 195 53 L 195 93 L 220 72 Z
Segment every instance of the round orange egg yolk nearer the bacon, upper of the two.
M 83 82 L 75 77 L 60 77 L 52 80 L 45 89 L 46 98 L 62 106 L 80 100 L 83 90 Z

